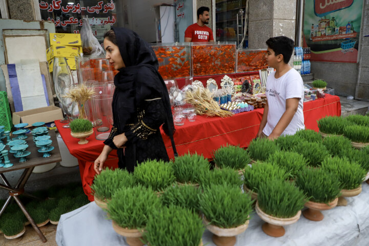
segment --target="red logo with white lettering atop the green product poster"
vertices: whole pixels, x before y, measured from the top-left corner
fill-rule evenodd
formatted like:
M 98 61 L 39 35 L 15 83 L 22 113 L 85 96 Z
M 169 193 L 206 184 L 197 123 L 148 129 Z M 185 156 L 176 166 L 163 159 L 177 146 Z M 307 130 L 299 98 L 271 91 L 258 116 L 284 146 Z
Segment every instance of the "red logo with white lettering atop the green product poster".
M 354 0 L 314 0 L 316 16 L 323 17 L 332 12 L 350 7 Z

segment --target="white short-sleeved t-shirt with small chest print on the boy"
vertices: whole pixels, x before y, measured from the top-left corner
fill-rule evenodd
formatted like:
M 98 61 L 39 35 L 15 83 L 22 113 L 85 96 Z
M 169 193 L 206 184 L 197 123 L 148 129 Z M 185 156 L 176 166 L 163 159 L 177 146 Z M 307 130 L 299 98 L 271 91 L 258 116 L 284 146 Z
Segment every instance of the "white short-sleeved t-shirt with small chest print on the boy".
M 293 135 L 300 129 L 305 129 L 303 118 L 303 81 L 299 72 L 290 69 L 279 78 L 274 77 L 275 72 L 271 73 L 267 79 L 265 95 L 268 100 L 268 118 L 263 133 L 269 136 L 279 119 L 285 112 L 286 99 L 300 98 L 299 105 L 290 124 L 281 135 Z

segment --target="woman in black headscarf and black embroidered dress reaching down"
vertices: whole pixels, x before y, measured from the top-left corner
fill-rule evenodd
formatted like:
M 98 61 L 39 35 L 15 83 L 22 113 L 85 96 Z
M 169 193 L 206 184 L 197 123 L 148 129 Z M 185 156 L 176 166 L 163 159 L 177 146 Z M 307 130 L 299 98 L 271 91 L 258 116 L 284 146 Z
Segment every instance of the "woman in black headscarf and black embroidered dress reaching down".
M 166 85 L 158 73 L 158 61 L 148 43 L 135 32 L 112 28 L 104 35 L 106 58 L 119 73 L 114 77 L 114 124 L 104 149 L 94 163 L 97 174 L 108 154 L 117 149 L 118 166 L 134 171 L 147 159 L 168 161 L 159 127 L 173 141 L 173 116 Z

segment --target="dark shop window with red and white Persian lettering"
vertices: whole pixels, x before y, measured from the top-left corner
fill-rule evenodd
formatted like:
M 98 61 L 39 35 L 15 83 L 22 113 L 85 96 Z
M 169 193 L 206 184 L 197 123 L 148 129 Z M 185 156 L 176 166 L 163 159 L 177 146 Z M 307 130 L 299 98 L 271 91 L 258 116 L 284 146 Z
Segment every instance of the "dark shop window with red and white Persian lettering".
M 100 43 L 103 43 L 104 33 L 111 25 L 117 24 L 113 0 L 40 0 L 39 8 L 41 18 L 51 20 L 57 33 L 79 33 L 83 17 L 87 16 Z

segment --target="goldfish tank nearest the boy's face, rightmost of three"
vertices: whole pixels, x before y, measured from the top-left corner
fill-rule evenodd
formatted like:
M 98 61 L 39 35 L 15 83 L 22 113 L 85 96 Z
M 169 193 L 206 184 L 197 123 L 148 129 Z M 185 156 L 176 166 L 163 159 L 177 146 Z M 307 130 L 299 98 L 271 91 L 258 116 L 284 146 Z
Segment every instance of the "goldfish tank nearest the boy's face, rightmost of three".
M 268 68 L 267 50 L 237 50 L 237 73 L 258 71 L 264 68 Z

